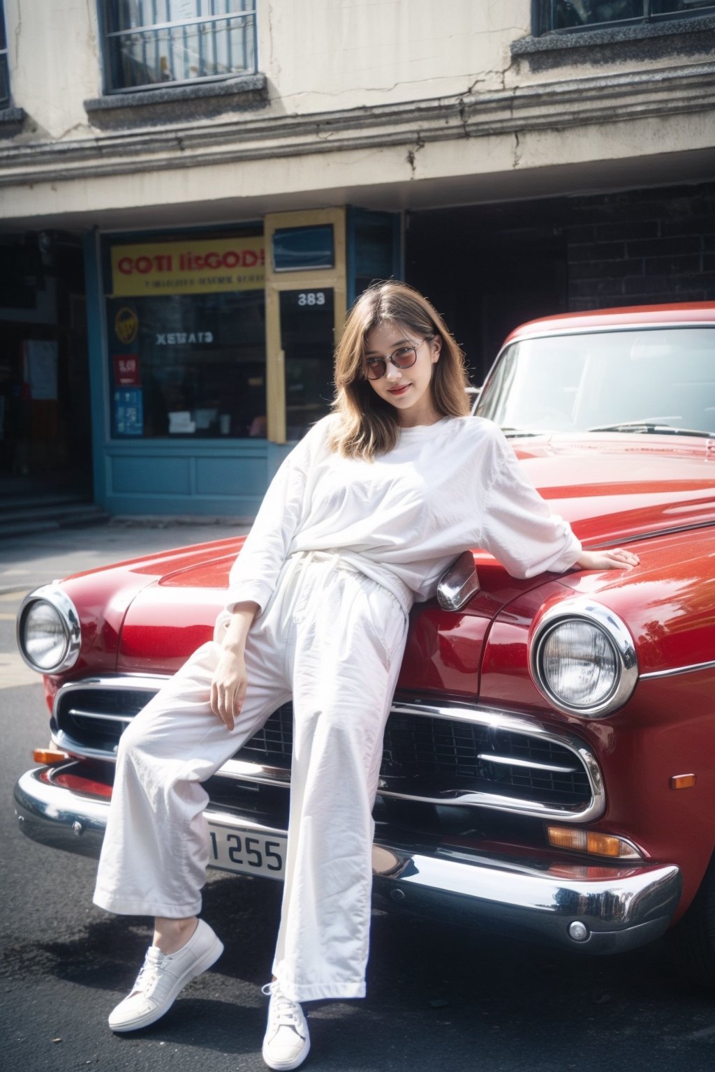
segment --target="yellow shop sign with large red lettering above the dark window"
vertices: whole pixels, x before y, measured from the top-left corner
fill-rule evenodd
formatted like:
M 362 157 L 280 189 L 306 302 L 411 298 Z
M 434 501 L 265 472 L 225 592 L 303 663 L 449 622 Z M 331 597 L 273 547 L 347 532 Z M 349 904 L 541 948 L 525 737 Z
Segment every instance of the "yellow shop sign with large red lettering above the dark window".
M 264 274 L 262 235 L 111 248 L 111 297 L 258 291 Z

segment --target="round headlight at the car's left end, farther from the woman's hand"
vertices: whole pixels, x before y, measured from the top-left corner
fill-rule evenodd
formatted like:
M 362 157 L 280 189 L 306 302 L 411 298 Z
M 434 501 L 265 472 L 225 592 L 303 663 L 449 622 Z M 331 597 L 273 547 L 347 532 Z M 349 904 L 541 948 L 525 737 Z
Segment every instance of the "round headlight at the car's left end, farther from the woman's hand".
M 29 667 L 40 673 L 59 673 L 77 660 L 79 619 L 59 584 L 30 592 L 17 614 L 17 646 Z

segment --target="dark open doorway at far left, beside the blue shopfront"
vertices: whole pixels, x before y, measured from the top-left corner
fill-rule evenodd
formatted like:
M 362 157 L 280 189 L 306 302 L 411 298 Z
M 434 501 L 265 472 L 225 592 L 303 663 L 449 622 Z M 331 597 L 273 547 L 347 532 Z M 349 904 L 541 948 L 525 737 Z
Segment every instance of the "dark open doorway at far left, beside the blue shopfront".
M 87 500 L 91 414 L 79 237 L 0 235 L 0 495 Z

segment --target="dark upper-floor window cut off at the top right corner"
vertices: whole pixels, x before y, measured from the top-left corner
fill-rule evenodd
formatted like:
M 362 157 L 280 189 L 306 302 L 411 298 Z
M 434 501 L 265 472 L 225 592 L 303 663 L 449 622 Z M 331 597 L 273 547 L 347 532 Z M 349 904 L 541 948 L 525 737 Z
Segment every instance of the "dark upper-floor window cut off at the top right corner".
M 535 33 L 587 30 L 715 13 L 713 0 L 536 0 Z

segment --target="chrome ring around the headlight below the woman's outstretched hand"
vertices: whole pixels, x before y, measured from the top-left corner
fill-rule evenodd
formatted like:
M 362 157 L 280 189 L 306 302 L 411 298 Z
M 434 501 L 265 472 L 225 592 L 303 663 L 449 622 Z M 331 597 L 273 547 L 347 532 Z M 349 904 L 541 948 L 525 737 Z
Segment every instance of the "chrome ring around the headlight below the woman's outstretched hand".
M 611 689 L 598 703 L 571 704 L 553 691 L 543 672 L 543 650 L 549 636 L 566 622 L 587 622 L 600 630 L 607 640 L 617 668 Z M 638 658 L 632 637 L 625 624 L 602 604 L 583 596 L 564 599 L 549 608 L 539 621 L 531 641 L 530 669 L 532 678 L 547 700 L 567 715 L 584 718 L 606 718 L 630 698 L 638 682 Z

